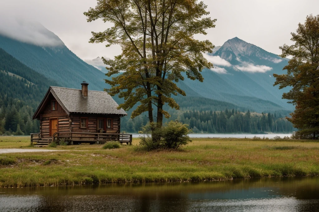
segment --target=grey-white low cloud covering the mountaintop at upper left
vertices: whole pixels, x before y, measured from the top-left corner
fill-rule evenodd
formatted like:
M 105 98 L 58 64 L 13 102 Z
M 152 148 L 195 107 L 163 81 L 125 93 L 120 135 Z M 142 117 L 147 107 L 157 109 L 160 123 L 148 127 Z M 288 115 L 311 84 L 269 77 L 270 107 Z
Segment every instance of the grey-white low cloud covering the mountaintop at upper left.
M 0 35 L 20 42 L 30 43 L 43 47 L 63 46 L 61 39 L 42 26 L 39 22 L 31 22 L 22 19 L 9 19 L 0 16 Z

